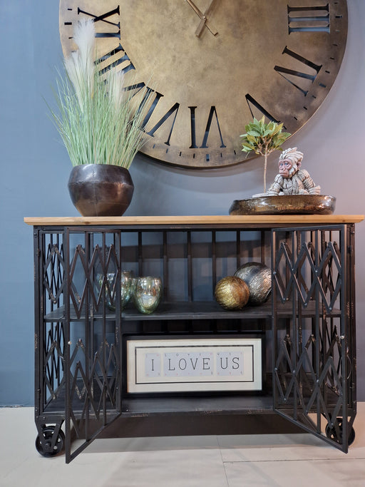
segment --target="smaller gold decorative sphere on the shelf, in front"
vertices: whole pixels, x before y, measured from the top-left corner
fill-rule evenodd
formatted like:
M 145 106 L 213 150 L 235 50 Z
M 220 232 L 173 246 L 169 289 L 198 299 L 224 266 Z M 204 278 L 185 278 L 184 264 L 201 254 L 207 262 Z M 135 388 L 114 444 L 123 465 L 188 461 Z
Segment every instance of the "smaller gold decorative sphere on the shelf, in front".
M 250 297 L 250 290 L 240 277 L 223 277 L 215 286 L 215 299 L 225 309 L 242 309 Z

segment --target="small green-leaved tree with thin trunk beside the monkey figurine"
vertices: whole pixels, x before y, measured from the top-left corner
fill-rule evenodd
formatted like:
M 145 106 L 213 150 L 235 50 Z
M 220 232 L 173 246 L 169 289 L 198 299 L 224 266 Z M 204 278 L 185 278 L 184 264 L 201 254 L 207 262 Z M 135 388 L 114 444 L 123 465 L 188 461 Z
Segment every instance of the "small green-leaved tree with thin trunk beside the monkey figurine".
M 282 132 L 282 127 L 282 123 L 272 121 L 265 123 L 264 117 L 261 120 L 256 120 L 254 117 L 253 122 L 245 126 L 246 133 L 240 135 L 243 152 L 250 153 L 253 150 L 256 154 L 264 156 L 264 193 L 266 193 L 267 156 L 274 150 L 282 150 L 280 146 L 292 135 Z

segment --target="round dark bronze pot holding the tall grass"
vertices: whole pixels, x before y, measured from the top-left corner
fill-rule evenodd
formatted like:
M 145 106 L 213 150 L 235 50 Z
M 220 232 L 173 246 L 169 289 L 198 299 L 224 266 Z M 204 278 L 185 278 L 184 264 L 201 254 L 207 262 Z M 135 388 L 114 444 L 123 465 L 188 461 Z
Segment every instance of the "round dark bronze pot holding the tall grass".
M 76 165 L 68 180 L 73 205 L 83 217 L 120 217 L 134 185 L 128 169 L 109 164 Z

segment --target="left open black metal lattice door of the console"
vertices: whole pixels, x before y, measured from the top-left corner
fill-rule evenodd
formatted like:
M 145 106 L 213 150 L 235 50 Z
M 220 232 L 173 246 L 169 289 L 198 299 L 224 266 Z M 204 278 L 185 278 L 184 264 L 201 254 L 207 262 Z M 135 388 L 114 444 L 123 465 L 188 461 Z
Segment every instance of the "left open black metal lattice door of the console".
M 68 461 L 120 414 L 120 231 L 66 232 L 65 247 Z M 85 440 L 73 453 L 71 428 Z

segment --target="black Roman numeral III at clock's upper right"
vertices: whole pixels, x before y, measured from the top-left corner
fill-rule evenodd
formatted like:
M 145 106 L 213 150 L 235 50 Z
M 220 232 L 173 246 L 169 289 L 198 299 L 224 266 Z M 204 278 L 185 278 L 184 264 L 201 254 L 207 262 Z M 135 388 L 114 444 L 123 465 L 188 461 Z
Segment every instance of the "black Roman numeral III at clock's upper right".
M 294 32 L 327 32 L 329 34 L 329 4 L 322 6 L 288 5 L 287 8 L 289 34 Z

